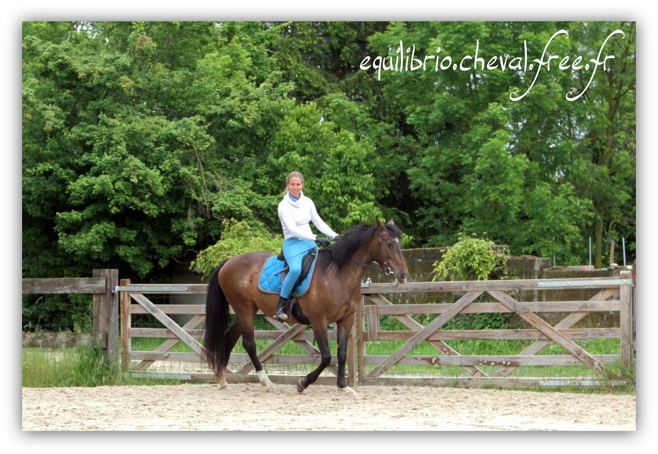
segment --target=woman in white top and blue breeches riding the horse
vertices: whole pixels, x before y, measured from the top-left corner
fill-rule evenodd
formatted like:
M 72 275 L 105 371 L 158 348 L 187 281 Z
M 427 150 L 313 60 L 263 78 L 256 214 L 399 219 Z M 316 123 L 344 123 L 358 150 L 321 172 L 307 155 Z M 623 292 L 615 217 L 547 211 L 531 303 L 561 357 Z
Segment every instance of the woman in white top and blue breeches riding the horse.
M 286 186 L 283 200 L 279 202 L 278 213 L 283 228 L 283 255 L 290 270 L 283 281 L 274 312 L 274 318 L 280 321 L 288 320 L 286 304 L 302 273 L 302 261 L 306 252 L 315 248 L 316 243 L 319 246 L 329 246 L 327 239 L 313 235 L 309 222 L 313 222 L 320 232 L 332 239 L 338 236 L 317 214 L 313 200 L 302 193 L 304 176 L 300 172 L 291 172 L 286 178 Z

